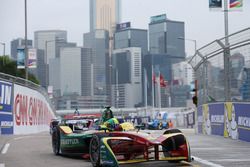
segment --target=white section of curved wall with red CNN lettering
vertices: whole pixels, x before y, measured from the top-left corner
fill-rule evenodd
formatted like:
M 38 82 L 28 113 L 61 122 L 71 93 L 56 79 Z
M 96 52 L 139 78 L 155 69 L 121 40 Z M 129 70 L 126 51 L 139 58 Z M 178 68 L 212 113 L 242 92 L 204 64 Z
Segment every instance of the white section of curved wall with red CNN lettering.
M 14 134 L 31 134 L 49 130 L 55 115 L 45 97 L 38 91 L 14 84 Z

